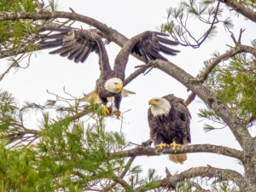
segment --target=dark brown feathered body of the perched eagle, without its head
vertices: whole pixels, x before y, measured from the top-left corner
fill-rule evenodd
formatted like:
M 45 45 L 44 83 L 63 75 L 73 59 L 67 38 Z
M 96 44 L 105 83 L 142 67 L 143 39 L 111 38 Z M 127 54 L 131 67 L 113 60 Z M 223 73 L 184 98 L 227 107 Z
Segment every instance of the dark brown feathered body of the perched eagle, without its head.
M 190 113 L 189 109 L 184 105 L 183 99 L 177 98 L 170 94 L 163 96 L 171 103 L 169 114 L 155 116 L 148 108 L 148 125 L 150 127 L 150 138 L 154 144 L 175 142 L 177 144 L 190 143 Z

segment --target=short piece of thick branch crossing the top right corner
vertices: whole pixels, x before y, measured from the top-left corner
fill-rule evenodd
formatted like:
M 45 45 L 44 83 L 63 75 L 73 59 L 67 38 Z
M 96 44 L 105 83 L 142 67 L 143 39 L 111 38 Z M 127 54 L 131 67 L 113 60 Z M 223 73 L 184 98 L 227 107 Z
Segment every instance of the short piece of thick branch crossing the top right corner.
M 244 15 L 245 17 L 247 17 L 247 19 L 256 22 L 256 12 L 254 12 L 252 9 L 248 9 L 247 7 L 243 6 L 241 3 L 239 3 L 239 1 L 221 0 L 221 2 L 225 3 L 230 8 L 235 9 L 236 12 L 240 13 L 241 15 Z

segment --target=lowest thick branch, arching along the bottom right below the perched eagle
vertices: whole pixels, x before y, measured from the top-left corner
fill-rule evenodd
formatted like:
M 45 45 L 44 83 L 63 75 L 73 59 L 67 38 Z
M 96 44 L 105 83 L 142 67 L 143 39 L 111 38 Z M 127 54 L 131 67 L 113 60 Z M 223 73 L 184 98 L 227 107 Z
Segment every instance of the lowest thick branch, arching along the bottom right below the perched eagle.
M 179 174 L 173 175 L 173 176 L 167 176 L 164 179 L 160 179 L 157 181 L 154 181 L 154 185 L 151 184 L 150 189 L 156 189 L 160 187 L 164 188 L 172 188 L 177 186 L 177 183 L 184 181 L 185 179 L 189 179 L 187 182 L 196 183 L 195 177 L 208 177 L 208 178 L 214 178 L 215 181 L 221 182 L 221 181 L 231 181 L 233 183 L 236 183 L 240 189 L 243 189 L 243 177 L 239 172 L 229 170 L 229 169 L 219 169 L 212 166 L 199 166 L 190 168 L 189 170 L 186 170 L 184 172 L 181 172 Z M 202 178 L 199 178 L 202 179 Z M 199 183 L 201 180 L 198 181 Z M 214 182 L 214 181 L 213 181 Z M 135 189 L 135 191 L 145 191 L 149 190 L 147 185 L 142 185 Z

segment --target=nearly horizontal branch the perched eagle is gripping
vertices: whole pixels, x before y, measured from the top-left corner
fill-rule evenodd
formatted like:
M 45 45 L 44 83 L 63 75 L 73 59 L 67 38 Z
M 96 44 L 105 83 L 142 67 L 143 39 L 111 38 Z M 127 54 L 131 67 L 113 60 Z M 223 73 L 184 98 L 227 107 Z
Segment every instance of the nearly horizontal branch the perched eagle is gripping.
M 233 157 L 238 160 L 243 160 L 243 153 L 240 150 L 235 148 L 227 148 L 224 146 L 211 145 L 211 144 L 195 144 L 189 146 L 182 146 L 181 148 L 177 148 L 173 150 L 172 148 L 132 148 L 130 150 L 119 151 L 117 153 L 112 154 L 112 158 L 116 156 L 154 156 L 160 154 L 186 154 L 186 153 L 213 153 L 213 154 L 223 154 L 225 156 Z

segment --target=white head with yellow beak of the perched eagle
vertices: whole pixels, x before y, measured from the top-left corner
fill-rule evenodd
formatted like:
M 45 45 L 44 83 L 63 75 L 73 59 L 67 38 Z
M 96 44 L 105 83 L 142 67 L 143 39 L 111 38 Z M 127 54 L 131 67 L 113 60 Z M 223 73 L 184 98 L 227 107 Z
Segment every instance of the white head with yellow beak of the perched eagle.
M 148 101 L 151 105 L 151 113 L 153 116 L 168 115 L 172 108 L 171 103 L 164 98 L 154 97 Z

